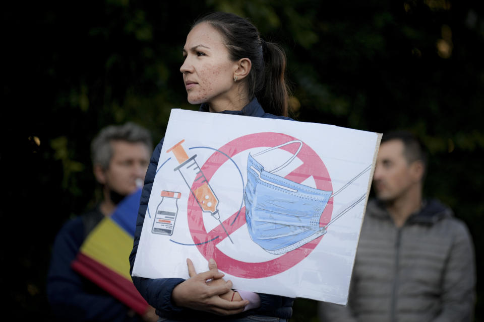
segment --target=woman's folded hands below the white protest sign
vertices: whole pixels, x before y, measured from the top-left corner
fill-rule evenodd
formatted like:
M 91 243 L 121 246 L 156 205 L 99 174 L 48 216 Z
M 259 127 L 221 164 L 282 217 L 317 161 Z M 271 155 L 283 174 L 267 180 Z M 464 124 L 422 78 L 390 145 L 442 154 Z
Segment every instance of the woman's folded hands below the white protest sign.
M 190 278 L 175 286 L 171 299 L 177 306 L 215 313 L 237 314 L 244 311 L 249 301 L 243 300 L 232 290 L 232 282 L 225 281 L 225 275 L 218 271 L 213 259 L 208 262 L 209 270 L 197 274 L 190 259 L 187 259 Z

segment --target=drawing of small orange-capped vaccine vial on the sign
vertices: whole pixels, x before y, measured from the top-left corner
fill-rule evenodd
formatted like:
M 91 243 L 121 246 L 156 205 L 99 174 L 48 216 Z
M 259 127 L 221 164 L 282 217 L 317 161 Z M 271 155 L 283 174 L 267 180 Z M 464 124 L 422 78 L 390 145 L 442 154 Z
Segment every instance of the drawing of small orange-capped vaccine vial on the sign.
M 163 235 L 172 235 L 178 213 L 177 201 L 181 197 L 181 193 L 163 190 L 161 197 L 162 199 L 156 207 L 155 220 L 151 231 Z

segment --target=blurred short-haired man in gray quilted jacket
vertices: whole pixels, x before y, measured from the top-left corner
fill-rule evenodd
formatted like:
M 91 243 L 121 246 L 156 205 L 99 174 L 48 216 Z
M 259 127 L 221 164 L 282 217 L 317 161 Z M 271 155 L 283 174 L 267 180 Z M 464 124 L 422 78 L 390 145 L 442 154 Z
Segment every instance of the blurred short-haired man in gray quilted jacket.
M 347 306 L 320 302 L 321 321 L 471 321 L 475 262 L 465 224 L 422 199 L 426 157 L 410 133 L 383 135 L 377 195 L 361 228 Z

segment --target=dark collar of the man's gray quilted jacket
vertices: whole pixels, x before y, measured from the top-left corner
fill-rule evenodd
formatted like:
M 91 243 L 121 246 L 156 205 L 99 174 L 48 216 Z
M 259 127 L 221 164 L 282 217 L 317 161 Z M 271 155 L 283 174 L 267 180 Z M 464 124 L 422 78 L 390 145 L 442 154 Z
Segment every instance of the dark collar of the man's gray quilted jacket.
M 386 210 L 385 205 L 378 199 L 370 200 L 367 208 L 370 215 L 381 219 L 387 218 L 391 220 L 390 214 Z M 405 224 L 416 223 L 431 225 L 446 217 L 453 217 L 450 208 L 444 206 L 436 199 L 423 200 L 420 210 L 411 214 Z

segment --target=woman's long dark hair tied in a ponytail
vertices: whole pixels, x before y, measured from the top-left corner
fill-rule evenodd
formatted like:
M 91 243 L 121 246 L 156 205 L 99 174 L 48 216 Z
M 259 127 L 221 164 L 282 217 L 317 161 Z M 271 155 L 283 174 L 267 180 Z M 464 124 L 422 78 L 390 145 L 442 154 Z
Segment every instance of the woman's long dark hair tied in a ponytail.
M 256 97 L 268 113 L 287 116 L 289 91 L 284 78 L 284 50 L 262 40 L 257 28 L 237 15 L 211 13 L 195 21 L 192 29 L 202 22 L 209 23 L 222 34 L 231 60 L 251 60 L 252 68 L 247 77 L 249 99 Z

